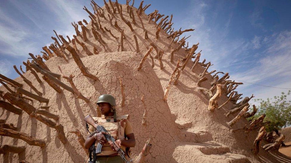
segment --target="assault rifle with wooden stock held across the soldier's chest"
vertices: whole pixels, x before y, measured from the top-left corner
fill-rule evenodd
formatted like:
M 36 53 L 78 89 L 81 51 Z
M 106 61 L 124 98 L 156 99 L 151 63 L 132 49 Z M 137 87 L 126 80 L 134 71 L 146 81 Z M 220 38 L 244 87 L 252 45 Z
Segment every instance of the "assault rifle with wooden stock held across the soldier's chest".
M 90 136 L 93 136 L 94 134 L 99 133 L 99 132 L 106 132 L 106 134 L 104 134 L 106 140 L 108 141 L 109 144 L 110 143 L 113 144 L 115 151 L 118 152 L 118 154 L 121 156 L 124 162 L 126 163 L 132 162 L 130 158 L 129 158 L 130 159 L 129 161 L 126 159 L 125 152 L 120 148 L 120 146 L 115 141 L 115 139 L 107 132 L 107 130 L 103 126 L 97 125 L 91 115 L 87 115 L 84 118 L 84 121 L 96 128 L 96 131 L 92 132 Z M 101 153 L 101 148 L 102 148 L 102 144 L 99 142 L 96 147 L 96 154 Z

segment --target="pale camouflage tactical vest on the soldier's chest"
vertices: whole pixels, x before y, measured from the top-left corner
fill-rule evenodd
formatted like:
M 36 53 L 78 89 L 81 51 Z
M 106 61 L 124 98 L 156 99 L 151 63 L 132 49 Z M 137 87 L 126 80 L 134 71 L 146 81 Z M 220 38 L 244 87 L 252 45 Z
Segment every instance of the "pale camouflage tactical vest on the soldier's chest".
M 95 120 L 96 124 L 103 126 L 107 132 L 115 139 L 121 139 L 125 140 L 126 135 L 124 133 L 124 127 L 126 125 L 126 119 L 129 118 L 129 115 L 122 115 L 122 116 L 117 116 L 116 120 L 117 122 L 114 122 L 114 118 L 106 118 L 102 119 L 101 117 L 93 117 Z M 96 130 L 96 129 L 95 129 Z M 95 147 L 97 146 L 98 142 L 95 141 Z M 110 146 L 109 146 L 110 147 Z M 126 148 L 121 145 L 121 148 L 125 151 Z M 98 154 L 99 156 L 100 154 Z

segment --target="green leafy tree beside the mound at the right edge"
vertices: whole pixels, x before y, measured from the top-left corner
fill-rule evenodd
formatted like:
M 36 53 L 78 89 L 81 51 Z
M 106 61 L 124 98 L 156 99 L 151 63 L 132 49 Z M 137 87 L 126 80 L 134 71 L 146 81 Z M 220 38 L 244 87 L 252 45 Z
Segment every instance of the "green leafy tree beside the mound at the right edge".
M 255 102 L 260 102 L 258 107 L 258 112 L 254 115 L 254 118 L 265 114 L 265 121 L 270 121 L 271 123 L 266 126 L 268 132 L 281 130 L 284 126 L 291 125 L 291 101 L 287 101 L 287 96 L 291 94 L 291 90 L 285 94 L 281 93 L 281 96 L 274 96 L 272 98 L 254 99 Z

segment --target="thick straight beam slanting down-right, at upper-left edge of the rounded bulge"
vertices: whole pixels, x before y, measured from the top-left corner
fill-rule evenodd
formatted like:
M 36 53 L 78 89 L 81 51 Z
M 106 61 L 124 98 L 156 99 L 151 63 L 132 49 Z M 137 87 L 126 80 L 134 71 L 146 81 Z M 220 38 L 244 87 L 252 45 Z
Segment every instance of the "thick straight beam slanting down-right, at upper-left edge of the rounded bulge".
M 67 45 L 66 49 L 72 54 L 74 61 L 76 62 L 77 66 L 79 67 L 79 69 L 81 70 L 81 72 L 84 76 L 90 77 L 93 80 L 98 80 L 98 78 L 96 76 L 94 76 L 88 72 L 88 70 L 84 66 L 81 58 L 79 57 L 79 55 L 77 54 L 77 52 L 75 51 L 74 48 L 72 48 L 70 45 Z M 73 90 L 71 92 L 74 93 Z

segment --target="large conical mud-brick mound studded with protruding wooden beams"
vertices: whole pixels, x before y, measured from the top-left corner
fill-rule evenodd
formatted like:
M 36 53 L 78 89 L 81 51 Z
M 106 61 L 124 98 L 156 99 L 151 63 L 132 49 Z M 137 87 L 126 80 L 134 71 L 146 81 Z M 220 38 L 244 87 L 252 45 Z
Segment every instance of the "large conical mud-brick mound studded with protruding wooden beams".
M 91 5 L 92 12 L 83 8 L 90 22 L 72 23 L 76 36 L 55 32 L 55 43 L 30 54 L 25 71 L 14 67 L 20 77 L 1 75 L 1 162 L 86 162 L 83 118 L 100 115 L 101 94 L 116 97 L 118 115 L 129 114 L 133 160 L 152 138 L 146 162 L 291 162 L 261 147 L 253 154 L 259 128 L 232 131 L 250 125 L 250 98 L 237 102 L 242 83 L 207 71 L 199 43 L 180 36 L 194 29 L 175 30 L 172 15 L 147 15 L 143 2 Z

